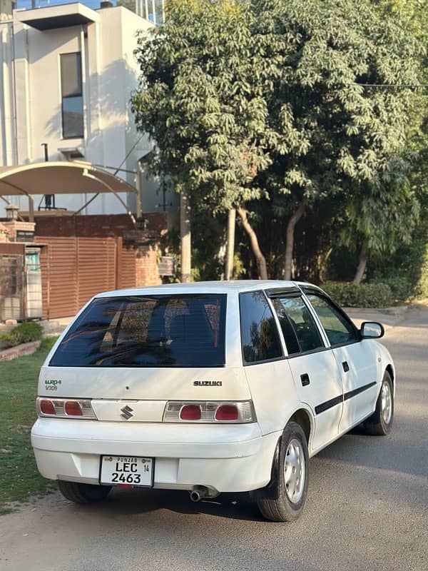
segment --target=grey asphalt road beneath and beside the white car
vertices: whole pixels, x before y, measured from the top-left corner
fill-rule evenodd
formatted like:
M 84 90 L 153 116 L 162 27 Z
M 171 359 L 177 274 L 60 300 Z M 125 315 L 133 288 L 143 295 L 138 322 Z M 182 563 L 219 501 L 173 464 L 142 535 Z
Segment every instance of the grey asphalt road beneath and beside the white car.
M 0 517 L 0 569 L 427 571 L 428 308 L 384 343 L 398 375 L 392 433 L 355 430 L 313 458 L 297 522 L 266 522 L 239 495 L 114 490 L 81 507 L 54 494 Z

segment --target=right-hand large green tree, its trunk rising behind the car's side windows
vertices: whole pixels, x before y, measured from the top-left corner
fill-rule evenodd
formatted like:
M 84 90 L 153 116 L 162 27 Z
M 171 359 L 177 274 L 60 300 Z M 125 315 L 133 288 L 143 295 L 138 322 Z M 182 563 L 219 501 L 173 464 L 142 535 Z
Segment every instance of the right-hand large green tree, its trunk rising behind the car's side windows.
M 275 61 L 264 82 L 270 167 L 263 176 L 270 196 L 288 197 L 284 276 L 290 279 L 295 226 L 307 208 L 336 197 L 363 216 L 387 203 L 392 188 L 389 203 L 402 204 L 396 195 L 411 167 L 406 126 L 414 102 L 412 89 L 402 86 L 418 81 L 418 46 L 365 0 L 254 6 L 255 37 Z M 396 89 L 377 87 L 384 84 Z M 359 216 L 350 220 L 360 225 Z M 395 235 L 402 233 L 389 240 Z

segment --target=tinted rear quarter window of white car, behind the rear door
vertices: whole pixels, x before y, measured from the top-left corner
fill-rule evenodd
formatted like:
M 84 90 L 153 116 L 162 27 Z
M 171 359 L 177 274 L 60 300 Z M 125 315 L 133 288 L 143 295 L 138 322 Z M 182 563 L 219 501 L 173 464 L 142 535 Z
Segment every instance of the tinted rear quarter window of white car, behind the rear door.
M 282 357 L 275 318 L 263 291 L 241 293 L 239 308 L 245 363 L 258 363 Z

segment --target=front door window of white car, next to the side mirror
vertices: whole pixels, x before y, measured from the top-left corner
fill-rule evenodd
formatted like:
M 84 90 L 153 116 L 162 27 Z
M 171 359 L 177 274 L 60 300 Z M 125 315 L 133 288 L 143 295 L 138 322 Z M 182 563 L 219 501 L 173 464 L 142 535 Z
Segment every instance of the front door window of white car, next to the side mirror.
M 307 293 L 307 298 L 315 309 L 331 345 L 343 345 L 358 340 L 355 327 L 350 320 L 347 320 L 327 298 L 315 293 Z

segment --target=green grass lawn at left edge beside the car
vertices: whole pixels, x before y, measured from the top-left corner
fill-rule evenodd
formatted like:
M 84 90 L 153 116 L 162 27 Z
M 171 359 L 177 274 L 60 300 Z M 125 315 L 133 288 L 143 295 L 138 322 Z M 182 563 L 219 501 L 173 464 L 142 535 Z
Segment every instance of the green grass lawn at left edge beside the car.
M 37 471 L 30 443 L 39 369 L 54 340 L 42 340 L 33 355 L 0 363 L 0 514 L 12 511 L 7 502 L 25 501 L 55 487 Z

